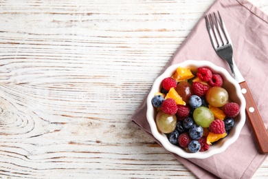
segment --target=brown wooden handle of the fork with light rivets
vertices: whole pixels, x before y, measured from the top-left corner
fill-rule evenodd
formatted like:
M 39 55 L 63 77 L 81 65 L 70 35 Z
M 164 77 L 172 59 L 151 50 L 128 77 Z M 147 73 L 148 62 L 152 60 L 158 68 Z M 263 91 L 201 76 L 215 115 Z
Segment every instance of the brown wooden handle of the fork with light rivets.
M 252 125 L 261 154 L 268 153 L 268 133 L 245 81 L 239 83 L 246 101 L 248 120 Z

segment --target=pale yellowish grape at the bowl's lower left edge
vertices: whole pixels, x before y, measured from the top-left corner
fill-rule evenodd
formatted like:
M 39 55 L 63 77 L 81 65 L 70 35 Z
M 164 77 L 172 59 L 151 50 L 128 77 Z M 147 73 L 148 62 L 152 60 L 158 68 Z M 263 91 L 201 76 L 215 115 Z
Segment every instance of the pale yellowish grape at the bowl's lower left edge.
M 165 114 L 160 111 L 158 112 L 155 120 L 157 128 L 164 134 L 168 134 L 176 128 L 177 118 L 175 115 Z

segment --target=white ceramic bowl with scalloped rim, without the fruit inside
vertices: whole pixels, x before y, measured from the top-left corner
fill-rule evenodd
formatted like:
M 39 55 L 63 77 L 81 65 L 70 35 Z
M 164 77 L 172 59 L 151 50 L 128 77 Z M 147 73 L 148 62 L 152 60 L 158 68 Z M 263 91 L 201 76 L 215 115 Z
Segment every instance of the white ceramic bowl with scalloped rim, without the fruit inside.
M 227 137 L 219 140 L 216 144 L 212 145 L 210 149 L 208 149 L 208 151 L 198 151 L 197 153 L 189 153 L 176 145 L 172 145 L 168 141 L 167 135 L 162 134 L 157 129 L 157 125 L 155 123 L 156 112 L 151 103 L 151 100 L 153 96 L 155 96 L 155 92 L 160 92 L 161 81 L 166 77 L 172 76 L 172 74 L 174 74 L 175 70 L 179 66 L 190 68 L 193 74 L 197 73 L 198 67 L 208 67 L 210 68 L 210 70 L 212 70 L 212 72 L 221 74 L 221 76 L 223 77 L 223 88 L 227 90 L 230 99 L 238 103 L 238 105 L 241 108 L 240 114 L 238 114 L 238 116 L 236 116 L 235 118 L 235 125 L 230 130 L 230 133 L 227 135 Z M 155 82 L 153 83 L 153 87 L 151 88 L 150 93 L 148 94 L 146 116 L 153 136 L 157 140 L 159 140 L 159 142 L 161 143 L 161 145 L 164 146 L 165 149 L 183 158 L 200 158 L 200 159 L 208 158 L 214 154 L 219 154 L 225 151 L 227 147 L 229 147 L 232 143 L 234 143 L 237 140 L 241 132 L 241 129 L 245 124 L 245 98 L 241 93 L 240 85 L 234 80 L 234 78 L 232 78 L 229 72 L 227 72 L 227 70 L 225 70 L 223 67 L 216 66 L 210 61 L 190 61 L 190 60 L 183 61 L 182 63 L 178 63 L 168 67 L 166 71 L 155 80 Z

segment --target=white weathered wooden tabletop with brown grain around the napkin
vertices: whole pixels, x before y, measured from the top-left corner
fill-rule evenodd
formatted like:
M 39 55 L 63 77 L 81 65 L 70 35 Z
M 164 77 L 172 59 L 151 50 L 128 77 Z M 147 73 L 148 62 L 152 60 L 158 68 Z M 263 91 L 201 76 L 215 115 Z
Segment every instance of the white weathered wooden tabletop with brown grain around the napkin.
M 130 118 L 212 2 L 0 1 L 1 178 L 195 178 Z

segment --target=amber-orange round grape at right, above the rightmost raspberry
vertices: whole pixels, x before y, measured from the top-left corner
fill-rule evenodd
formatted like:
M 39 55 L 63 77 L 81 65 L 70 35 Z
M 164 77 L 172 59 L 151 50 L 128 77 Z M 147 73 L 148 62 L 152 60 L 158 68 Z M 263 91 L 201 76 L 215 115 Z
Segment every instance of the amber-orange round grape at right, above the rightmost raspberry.
M 210 87 L 205 94 L 205 99 L 214 107 L 222 107 L 228 102 L 229 95 L 223 87 Z

